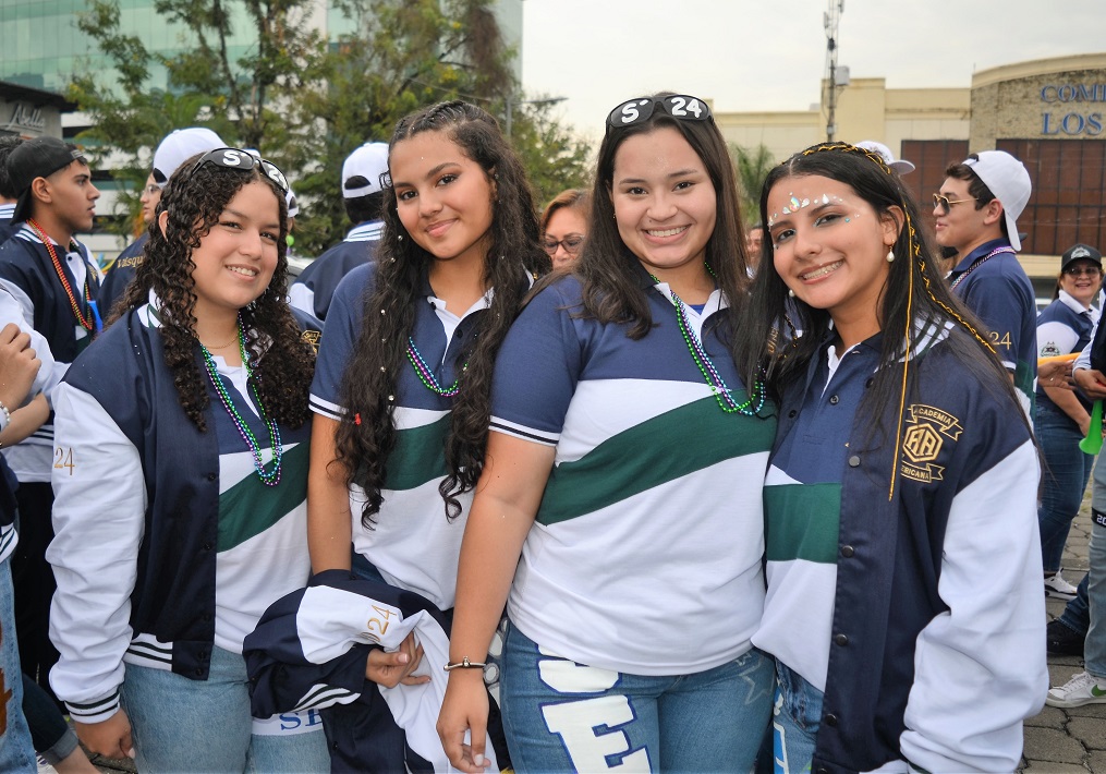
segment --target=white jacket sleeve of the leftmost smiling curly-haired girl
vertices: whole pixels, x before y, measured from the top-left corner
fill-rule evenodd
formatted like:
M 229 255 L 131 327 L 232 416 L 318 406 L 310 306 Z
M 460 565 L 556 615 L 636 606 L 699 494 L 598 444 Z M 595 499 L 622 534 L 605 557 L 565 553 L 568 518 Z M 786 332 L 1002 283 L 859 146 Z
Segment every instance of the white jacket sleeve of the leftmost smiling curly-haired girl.
M 58 579 L 50 638 L 61 659 L 50 684 L 74 720 L 96 723 L 118 709 L 146 482 L 138 450 L 94 398 L 61 384 L 54 411 L 55 536 L 46 559 Z

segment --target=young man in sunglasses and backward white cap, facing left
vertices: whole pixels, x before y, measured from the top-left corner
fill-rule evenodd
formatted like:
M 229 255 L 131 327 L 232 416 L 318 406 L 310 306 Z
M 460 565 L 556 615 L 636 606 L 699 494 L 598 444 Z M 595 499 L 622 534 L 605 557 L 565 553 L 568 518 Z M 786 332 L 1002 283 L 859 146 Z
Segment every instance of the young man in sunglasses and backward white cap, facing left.
M 952 291 L 990 328 L 991 345 L 1032 415 L 1036 380 L 1033 284 L 1018 262 L 1018 216 L 1033 184 L 1025 165 L 1004 150 L 982 150 L 949 165 L 933 195 L 937 243 L 957 251 Z

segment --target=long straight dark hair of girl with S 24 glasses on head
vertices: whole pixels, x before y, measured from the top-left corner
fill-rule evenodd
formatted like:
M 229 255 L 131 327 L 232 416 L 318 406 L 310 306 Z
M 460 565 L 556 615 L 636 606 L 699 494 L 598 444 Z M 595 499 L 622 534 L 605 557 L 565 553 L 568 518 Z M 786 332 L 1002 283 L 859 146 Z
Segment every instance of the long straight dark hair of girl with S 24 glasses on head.
M 670 96 L 660 92 L 653 100 Z M 622 144 L 635 135 L 648 134 L 670 127 L 680 133 L 696 155 L 714 186 L 717 216 L 714 231 L 707 240 L 706 261 L 713 271 L 718 286 L 726 294 L 730 307 L 719 315 L 727 322 L 735 313 L 748 285 L 748 258 L 745 239 L 741 229 L 741 206 L 738 197 L 737 176 L 713 118 L 708 121 L 679 121 L 664 111 L 638 124 L 608 128 L 599 146 L 595 185 L 592 189 L 592 216 L 587 239 L 573 271 L 581 278 L 584 314 L 602 323 L 628 323 L 627 335 L 641 338 L 653 326 L 649 301 L 638 281 L 640 264 L 618 233 L 612 187 L 615 157 Z M 729 321 L 732 325 L 732 321 Z M 752 383 L 750 383 L 752 384 Z

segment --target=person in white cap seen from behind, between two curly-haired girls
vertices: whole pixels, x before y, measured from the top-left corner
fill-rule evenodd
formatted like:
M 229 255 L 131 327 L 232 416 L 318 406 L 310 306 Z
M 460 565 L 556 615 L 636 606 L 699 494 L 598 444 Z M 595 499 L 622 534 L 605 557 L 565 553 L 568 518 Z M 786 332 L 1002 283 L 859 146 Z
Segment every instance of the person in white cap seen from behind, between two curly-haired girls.
M 355 226 L 346 238 L 312 261 L 289 289 L 289 303 L 321 322 L 342 278 L 376 253 L 384 230 L 380 207 L 388 177 L 388 145 L 365 143 L 342 165 L 342 199 Z

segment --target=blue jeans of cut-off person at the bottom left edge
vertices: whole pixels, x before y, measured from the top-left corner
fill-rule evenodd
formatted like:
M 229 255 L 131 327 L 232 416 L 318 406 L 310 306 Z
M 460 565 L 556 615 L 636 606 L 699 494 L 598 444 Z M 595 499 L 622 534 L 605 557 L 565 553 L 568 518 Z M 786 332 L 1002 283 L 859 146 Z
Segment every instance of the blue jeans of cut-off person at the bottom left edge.
M 31 731 L 23 715 L 23 671 L 15 639 L 11 562 L 0 562 L 0 702 L 7 725 L 0 725 L 0 772 L 36 772 Z

